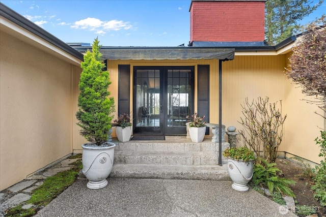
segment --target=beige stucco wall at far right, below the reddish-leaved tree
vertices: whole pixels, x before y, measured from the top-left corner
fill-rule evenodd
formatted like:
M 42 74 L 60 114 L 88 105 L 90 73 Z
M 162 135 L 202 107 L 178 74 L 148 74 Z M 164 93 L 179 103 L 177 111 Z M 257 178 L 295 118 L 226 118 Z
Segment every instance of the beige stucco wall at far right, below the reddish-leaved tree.
M 290 53 L 287 57 L 289 55 Z M 321 157 L 318 157 L 320 147 L 314 140 L 320 137 L 322 129 L 326 129 L 326 120 L 314 113 L 323 114 L 317 105 L 308 103 L 314 99 L 302 94 L 301 90 L 299 85 L 293 84 L 291 80 L 286 80 L 285 109 L 291 115 L 288 115 L 285 123 L 286 146 L 284 150 L 295 156 L 320 163 L 322 160 Z

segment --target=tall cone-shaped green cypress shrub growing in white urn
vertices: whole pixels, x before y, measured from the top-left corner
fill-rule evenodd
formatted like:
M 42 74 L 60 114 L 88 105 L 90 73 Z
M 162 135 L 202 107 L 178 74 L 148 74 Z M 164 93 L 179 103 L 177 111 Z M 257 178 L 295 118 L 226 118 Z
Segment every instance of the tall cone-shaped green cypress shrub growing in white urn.
M 96 145 L 107 141 L 113 119 L 111 113 L 115 111 L 114 98 L 110 97 L 110 92 L 107 91 L 111 81 L 108 71 L 103 71 L 105 65 L 101 60 L 100 48 L 96 38 L 92 52 L 87 50 L 84 55 L 81 64 L 83 72 L 79 81 L 79 110 L 76 113 L 79 120 L 77 125 L 82 128 L 80 135 Z

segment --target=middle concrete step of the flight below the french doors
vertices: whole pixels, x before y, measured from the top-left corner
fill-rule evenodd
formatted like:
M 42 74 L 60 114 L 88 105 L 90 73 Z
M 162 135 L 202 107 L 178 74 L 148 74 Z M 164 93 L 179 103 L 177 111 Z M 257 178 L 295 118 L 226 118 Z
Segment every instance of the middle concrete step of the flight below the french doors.
M 223 158 L 225 159 L 225 158 Z M 219 165 L 213 151 L 115 151 L 115 164 Z

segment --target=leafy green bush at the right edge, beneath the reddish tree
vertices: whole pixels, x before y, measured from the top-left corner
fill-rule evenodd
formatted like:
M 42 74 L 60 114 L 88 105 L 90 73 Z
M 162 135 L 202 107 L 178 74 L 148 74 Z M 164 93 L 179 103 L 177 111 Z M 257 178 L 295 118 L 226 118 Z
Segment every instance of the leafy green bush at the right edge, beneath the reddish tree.
M 314 168 L 316 176 L 314 177 L 314 185 L 311 189 L 315 191 L 314 197 L 320 201 L 322 206 L 326 206 L 326 131 L 320 131 L 321 139 L 316 138 L 316 144 L 320 146 L 319 157 L 323 157 L 324 160 L 320 161 L 320 165 Z

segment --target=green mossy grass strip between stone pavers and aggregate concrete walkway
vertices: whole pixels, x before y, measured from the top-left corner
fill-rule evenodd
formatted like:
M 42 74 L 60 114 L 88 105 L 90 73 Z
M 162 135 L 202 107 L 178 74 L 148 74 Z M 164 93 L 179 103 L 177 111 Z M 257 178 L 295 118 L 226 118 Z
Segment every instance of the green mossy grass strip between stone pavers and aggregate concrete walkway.
M 81 157 L 82 154 L 76 154 L 69 159 L 76 159 Z M 6 216 L 33 216 L 41 208 L 58 197 L 58 195 L 60 195 L 76 180 L 79 171 L 83 168 L 82 160 L 77 160 L 76 162 L 71 163 L 71 165 L 74 167 L 70 170 L 63 171 L 46 178 L 44 183 L 33 192 L 31 199 L 24 202 L 24 204 L 34 204 L 32 208 L 23 209 L 22 205 L 20 204 L 11 209 L 8 209 Z

